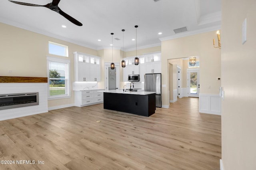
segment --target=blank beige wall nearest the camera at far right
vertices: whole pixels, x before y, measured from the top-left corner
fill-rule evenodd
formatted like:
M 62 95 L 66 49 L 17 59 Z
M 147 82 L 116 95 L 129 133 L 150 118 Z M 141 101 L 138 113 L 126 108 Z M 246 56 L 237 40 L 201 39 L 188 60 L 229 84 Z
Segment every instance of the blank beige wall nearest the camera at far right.
M 224 170 L 256 169 L 256 1 L 222 0 L 222 161 Z M 247 42 L 242 23 L 247 18 Z

